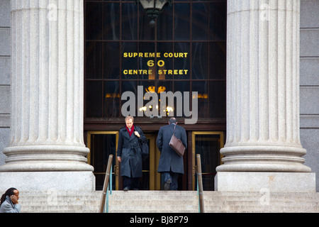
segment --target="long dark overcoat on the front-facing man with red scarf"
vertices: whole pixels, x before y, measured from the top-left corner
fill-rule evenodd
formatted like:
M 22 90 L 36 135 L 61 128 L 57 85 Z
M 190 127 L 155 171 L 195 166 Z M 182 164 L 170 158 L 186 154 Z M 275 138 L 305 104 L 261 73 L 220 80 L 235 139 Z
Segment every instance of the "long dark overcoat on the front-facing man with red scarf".
M 142 177 L 142 150 L 139 140 L 146 140 L 142 129 L 134 126 L 134 130 L 138 131 L 140 138 L 134 133 L 128 134 L 125 127 L 121 128 L 118 134 L 118 157 L 121 157 L 121 176 L 126 177 Z

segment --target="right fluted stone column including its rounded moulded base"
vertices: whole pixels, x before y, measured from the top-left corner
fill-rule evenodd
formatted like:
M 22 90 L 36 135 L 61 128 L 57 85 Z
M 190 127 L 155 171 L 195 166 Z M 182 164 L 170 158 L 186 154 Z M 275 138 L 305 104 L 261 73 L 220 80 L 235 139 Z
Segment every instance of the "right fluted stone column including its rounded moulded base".
M 300 0 L 228 0 L 227 139 L 218 177 L 310 172 L 299 138 L 299 12 Z

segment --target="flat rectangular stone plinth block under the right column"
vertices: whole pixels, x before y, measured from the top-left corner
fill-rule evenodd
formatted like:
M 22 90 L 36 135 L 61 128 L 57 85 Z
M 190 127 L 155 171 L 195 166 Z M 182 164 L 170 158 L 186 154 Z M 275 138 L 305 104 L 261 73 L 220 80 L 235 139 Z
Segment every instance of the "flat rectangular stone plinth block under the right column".
M 218 172 L 220 192 L 315 192 L 314 172 Z

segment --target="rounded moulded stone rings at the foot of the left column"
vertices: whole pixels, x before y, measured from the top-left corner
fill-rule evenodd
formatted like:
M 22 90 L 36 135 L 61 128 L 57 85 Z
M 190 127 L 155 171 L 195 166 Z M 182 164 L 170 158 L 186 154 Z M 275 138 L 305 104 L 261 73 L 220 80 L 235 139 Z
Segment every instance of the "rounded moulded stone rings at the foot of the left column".
M 89 148 L 75 145 L 21 145 L 4 148 L 0 172 L 93 171 L 87 164 Z

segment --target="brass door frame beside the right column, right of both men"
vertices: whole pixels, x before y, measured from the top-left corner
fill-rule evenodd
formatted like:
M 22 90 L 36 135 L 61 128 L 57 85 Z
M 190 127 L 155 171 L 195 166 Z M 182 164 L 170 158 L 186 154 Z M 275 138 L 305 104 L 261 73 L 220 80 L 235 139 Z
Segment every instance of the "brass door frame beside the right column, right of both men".
M 224 147 L 224 132 L 223 131 L 193 131 L 191 132 L 191 164 L 192 164 L 192 188 L 195 190 L 195 174 L 196 174 L 196 146 L 195 137 L 196 135 L 219 135 L 220 149 Z M 222 164 L 220 155 L 220 165 Z

